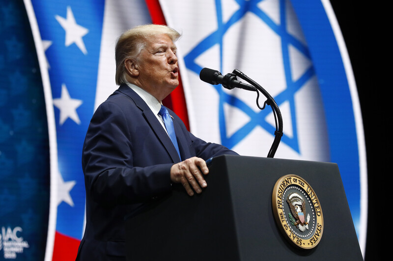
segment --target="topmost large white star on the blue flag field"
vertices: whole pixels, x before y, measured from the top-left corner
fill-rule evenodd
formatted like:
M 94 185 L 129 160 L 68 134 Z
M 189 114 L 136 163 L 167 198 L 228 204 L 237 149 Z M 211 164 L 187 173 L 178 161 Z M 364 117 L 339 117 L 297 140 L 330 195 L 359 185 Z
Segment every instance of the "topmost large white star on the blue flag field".
M 63 17 L 58 15 L 56 15 L 55 18 L 65 30 L 65 46 L 68 47 L 75 43 L 77 47 L 79 47 L 79 49 L 84 54 L 86 54 L 87 50 L 84 46 L 82 37 L 86 35 L 89 30 L 76 23 L 71 7 L 67 6 L 67 19 L 64 19 Z

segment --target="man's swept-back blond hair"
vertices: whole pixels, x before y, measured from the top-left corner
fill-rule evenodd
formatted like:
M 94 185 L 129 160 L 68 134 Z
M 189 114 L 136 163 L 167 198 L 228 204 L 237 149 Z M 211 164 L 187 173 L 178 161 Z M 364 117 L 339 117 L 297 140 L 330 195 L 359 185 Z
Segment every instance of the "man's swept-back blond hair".
M 160 24 L 144 24 L 125 31 L 116 42 L 115 60 L 116 60 L 116 84 L 126 83 L 126 69 L 124 62 L 126 59 L 138 61 L 140 51 L 145 47 L 146 40 L 152 36 L 166 34 L 175 42 L 180 37 L 180 33 Z

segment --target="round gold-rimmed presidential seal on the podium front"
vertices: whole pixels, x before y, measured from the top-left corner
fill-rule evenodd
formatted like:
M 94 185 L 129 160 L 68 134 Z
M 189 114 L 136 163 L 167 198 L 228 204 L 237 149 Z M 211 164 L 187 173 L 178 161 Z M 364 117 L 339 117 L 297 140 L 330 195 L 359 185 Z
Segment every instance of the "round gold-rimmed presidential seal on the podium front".
M 274 186 L 273 213 L 283 234 L 296 247 L 315 247 L 323 232 L 323 215 L 309 184 L 297 175 L 281 177 Z

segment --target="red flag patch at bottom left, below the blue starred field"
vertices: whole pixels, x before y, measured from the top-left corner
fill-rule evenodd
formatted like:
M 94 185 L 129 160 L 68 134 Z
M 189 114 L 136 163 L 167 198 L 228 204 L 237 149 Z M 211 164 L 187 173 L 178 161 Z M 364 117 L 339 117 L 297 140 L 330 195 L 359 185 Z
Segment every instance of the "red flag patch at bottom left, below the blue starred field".
M 52 261 L 75 260 L 80 242 L 78 239 L 65 236 L 56 231 Z

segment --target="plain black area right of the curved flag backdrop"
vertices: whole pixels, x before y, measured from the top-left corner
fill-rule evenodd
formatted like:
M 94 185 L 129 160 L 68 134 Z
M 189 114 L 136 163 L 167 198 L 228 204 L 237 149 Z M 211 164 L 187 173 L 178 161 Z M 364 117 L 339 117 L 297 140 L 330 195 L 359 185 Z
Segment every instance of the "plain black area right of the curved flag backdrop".
M 389 199 L 384 191 L 389 188 L 386 185 L 391 171 L 387 163 L 392 154 L 390 140 L 386 139 L 392 125 L 387 105 L 390 86 L 385 80 L 389 60 L 383 37 L 383 28 L 388 27 L 384 26 L 387 7 L 363 1 L 331 0 L 331 4 L 348 50 L 361 104 L 368 174 L 365 261 L 377 261 L 382 260 L 385 252 L 383 242 L 390 241 L 383 234 L 389 234 L 392 222 L 389 217 L 382 218 L 389 212 Z M 385 30 L 389 32 L 388 28 Z

